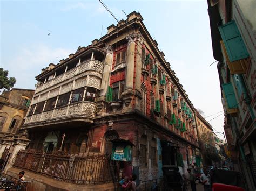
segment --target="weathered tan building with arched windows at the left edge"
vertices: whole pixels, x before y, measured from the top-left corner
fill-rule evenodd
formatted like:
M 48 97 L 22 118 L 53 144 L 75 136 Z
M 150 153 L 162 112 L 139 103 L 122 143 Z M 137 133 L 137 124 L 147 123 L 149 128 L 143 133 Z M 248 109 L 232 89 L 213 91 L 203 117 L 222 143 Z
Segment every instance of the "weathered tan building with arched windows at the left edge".
M 0 158 L 6 165 L 35 90 L 12 88 L 0 95 Z M 21 136 L 21 135 L 19 135 Z

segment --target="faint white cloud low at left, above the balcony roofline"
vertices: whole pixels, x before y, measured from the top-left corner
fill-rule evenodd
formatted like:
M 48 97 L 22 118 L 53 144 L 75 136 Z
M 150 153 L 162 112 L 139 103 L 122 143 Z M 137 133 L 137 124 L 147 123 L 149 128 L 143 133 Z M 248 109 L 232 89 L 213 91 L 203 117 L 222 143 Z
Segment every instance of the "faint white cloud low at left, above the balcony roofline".
M 5 62 L 3 68 L 9 70 L 9 77 L 16 78 L 14 88 L 35 89 L 35 76 L 41 73 L 41 69 L 51 62 L 57 64 L 70 53 L 70 49 L 51 48 L 44 44 L 24 47 L 13 59 Z

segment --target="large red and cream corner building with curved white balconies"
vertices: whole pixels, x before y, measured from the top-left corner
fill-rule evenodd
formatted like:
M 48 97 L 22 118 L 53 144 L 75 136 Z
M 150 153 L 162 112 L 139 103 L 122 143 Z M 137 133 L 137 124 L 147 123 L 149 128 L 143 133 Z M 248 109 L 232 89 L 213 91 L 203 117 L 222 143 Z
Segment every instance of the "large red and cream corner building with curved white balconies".
M 90 185 L 93 172 L 102 172 L 103 166 L 96 165 L 90 180 L 88 174 L 85 178 L 89 172 L 81 166 L 84 153 L 87 158 L 102 153 L 126 161 L 124 171 L 132 165 L 137 180 L 144 181 L 160 178 L 164 165 L 177 165 L 184 173 L 196 164 L 195 109 L 142 16 L 132 12 L 107 30 L 99 40 L 36 76 L 22 128 L 29 131 L 30 150 L 18 153 L 15 167 Z M 55 163 L 49 158 L 57 151 L 66 158 Z M 69 165 L 60 164 L 62 160 Z M 45 167 L 46 161 L 51 166 Z

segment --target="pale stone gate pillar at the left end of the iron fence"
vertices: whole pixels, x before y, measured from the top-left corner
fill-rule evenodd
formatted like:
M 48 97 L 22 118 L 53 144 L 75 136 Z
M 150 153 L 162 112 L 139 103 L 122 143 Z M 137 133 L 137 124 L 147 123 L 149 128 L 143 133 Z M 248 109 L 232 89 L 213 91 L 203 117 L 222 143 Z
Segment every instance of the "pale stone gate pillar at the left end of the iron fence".
M 12 167 L 12 165 L 15 162 L 15 158 L 17 156 L 18 151 L 25 149 L 26 146 L 28 146 L 30 140 L 27 138 L 28 137 L 28 131 L 25 130 L 21 134 L 15 136 L 14 138 L 14 148 L 12 149 L 10 158 L 4 168 L 4 173 L 8 171 L 9 168 Z

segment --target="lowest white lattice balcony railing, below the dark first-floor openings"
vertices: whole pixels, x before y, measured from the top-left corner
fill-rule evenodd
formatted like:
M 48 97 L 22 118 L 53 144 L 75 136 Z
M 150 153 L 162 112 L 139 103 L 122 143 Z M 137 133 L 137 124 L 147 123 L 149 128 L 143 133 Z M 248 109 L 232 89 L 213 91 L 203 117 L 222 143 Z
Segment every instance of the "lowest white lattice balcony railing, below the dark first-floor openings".
M 40 114 L 27 116 L 24 124 L 43 122 L 60 117 L 69 117 L 73 115 L 81 115 L 95 117 L 96 104 L 93 102 L 77 102 L 65 107 L 56 108 L 50 111 L 45 111 Z

